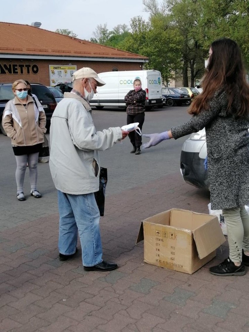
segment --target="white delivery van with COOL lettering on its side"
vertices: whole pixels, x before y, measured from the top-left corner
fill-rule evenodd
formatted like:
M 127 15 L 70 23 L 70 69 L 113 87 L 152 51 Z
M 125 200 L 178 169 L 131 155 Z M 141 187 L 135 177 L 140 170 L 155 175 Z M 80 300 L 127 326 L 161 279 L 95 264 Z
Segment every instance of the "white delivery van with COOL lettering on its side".
M 145 108 L 162 104 L 162 78 L 158 70 L 108 71 L 98 76 L 106 84 L 97 87 L 90 104 L 99 110 L 104 106 L 125 107 L 124 97 L 133 90 L 136 78 L 141 80 L 142 89 L 146 91 Z

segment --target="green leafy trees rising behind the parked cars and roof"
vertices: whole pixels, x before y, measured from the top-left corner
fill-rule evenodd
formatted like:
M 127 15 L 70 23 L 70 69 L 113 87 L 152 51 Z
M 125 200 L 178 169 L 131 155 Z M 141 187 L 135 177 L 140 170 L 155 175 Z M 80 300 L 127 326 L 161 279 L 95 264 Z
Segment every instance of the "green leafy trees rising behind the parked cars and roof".
M 221 37 L 238 42 L 249 70 L 248 0 L 143 0 L 150 13 L 118 25 L 97 26 L 91 41 L 147 56 L 145 69 L 157 69 L 165 81 L 182 73 L 183 84 L 191 86 L 204 74 L 210 43 Z

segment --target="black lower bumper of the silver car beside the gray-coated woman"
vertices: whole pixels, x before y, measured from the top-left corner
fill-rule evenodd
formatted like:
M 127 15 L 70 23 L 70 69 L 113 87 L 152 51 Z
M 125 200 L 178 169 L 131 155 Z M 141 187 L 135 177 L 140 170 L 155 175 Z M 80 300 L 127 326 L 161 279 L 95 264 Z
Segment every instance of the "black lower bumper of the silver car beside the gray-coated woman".
M 181 152 L 181 173 L 186 183 L 197 188 L 209 190 L 207 170 L 199 152 Z

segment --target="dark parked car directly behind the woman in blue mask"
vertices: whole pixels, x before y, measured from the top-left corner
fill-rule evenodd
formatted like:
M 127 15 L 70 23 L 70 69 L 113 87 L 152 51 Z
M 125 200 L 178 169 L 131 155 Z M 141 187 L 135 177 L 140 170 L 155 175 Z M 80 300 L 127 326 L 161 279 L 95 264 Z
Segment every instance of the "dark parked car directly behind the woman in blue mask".
M 46 114 L 46 127 L 49 129 L 50 120 L 53 114 L 53 111 L 57 105 L 54 96 L 51 91 L 43 84 L 39 83 L 31 83 L 32 93 L 37 96 L 40 101 L 45 114 Z M 3 111 L 6 106 L 6 103 L 14 98 L 14 94 L 12 92 L 12 83 L 0 83 L 0 128 L 4 135 L 6 135 L 3 127 L 2 127 L 2 116 Z

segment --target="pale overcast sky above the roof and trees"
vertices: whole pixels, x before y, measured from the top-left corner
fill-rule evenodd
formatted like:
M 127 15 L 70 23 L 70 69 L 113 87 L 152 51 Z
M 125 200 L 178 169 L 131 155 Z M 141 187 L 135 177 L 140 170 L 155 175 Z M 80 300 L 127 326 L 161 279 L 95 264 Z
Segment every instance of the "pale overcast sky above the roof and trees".
M 42 29 L 69 29 L 78 38 L 90 40 L 97 25 L 107 23 L 112 30 L 118 24 L 130 27 L 134 16 L 147 21 L 149 14 L 143 9 L 142 0 L 11 0 L 8 4 L 1 0 L 0 21 L 19 24 L 37 21 Z

